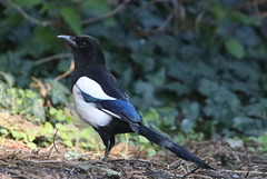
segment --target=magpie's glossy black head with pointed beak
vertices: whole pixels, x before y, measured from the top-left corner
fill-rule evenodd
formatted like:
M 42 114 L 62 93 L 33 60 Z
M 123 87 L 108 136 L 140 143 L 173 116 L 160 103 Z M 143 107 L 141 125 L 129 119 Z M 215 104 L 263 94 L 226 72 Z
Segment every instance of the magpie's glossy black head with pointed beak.
M 76 67 L 105 64 L 105 58 L 97 40 L 90 36 L 58 36 L 66 41 L 75 56 Z

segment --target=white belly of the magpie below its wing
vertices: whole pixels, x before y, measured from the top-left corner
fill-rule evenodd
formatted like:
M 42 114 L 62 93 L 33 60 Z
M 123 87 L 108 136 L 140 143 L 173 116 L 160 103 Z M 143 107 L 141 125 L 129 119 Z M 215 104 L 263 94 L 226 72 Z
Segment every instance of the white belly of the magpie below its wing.
M 96 108 L 95 103 L 86 102 L 80 90 L 73 86 L 72 96 L 79 117 L 90 126 L 98 128 L 108 125 L 112 117 Z

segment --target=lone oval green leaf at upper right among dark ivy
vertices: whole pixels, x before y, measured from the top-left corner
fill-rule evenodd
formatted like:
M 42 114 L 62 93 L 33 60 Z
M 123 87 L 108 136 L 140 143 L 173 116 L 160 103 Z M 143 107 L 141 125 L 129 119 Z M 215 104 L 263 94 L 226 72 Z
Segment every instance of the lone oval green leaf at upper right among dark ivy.
M 245 57 L 245 49 L 237 39 L 228 39 L 225 41 L 227 51 L 235 58 L 241 59 Z

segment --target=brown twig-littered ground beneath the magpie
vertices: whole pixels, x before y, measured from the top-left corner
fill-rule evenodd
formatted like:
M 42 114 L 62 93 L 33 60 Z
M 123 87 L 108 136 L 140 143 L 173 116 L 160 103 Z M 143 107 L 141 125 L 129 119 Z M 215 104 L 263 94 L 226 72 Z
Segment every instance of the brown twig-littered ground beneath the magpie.
M 121 159 L 118 152 L 125 147 L 122 143 L 117 145 L 109 160 L 103 162 L 95 152 L 82 151 L 82 156 L 75 159 L 66 158 L 63 153 L 72 149 L 60 143 L 32 150 L 21 142 L 7 140 L 0 146 L 0 178 L 267 178 L 266 156 L 250 152 L 245 147 L 233 148 L 227 142 L 201 141 L 186 145 L 212 166 L 215 171 L 200 169 L 171 153 L 140 158 L 135 155 L 137 147 L 131 146 L 128 159 Z

